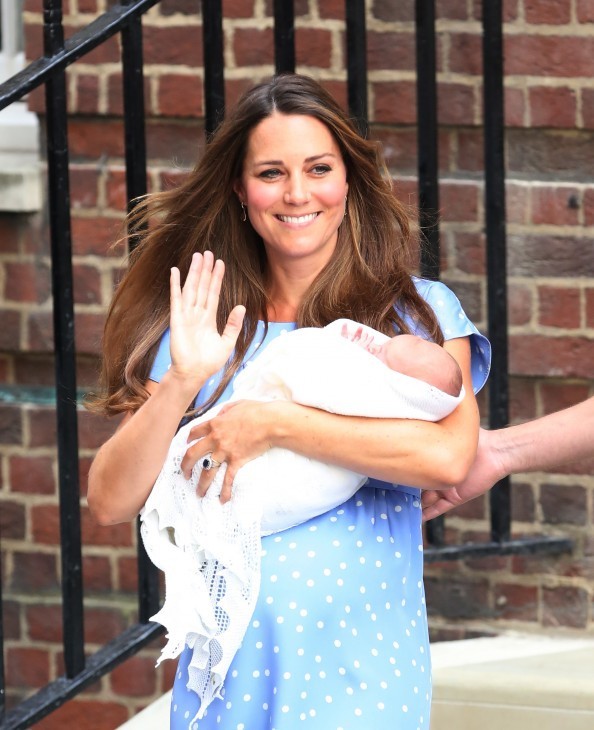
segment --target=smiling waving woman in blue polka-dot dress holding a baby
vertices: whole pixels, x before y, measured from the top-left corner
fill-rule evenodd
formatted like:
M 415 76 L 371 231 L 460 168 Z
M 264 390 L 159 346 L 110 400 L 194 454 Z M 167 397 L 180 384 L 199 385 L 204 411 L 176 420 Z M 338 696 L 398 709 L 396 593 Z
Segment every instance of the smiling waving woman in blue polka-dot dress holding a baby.
M 439 423 L 244 401 L 192 431 L 181 468 L 213 466 L 199 494 L 226 463 L 229 499 L 237 470 L 271 447 L 370 480 L 335 510 L 264 538 L 258 603 L 221 697 L 206 707 L 209 667 L 199 646 L 185 647 L 172 728 L 429 726 L 419 487 L 454 485 L 472 464 L 472 380 L 484 382 L 488 344 L 446 287 L 408 273 L 408 219 L 382 172 L 376 145 L 336 102 L 287 75 L 247 92 L 187 181 L 146 202 L 156 222 L 106 325 L 102 406 L 126 416 L 89 477 L 100 522 L 138 513 L 187 408 L 226 400 L 234 374 L 284 331 L 345 317 L 422 334 L 456 359 L 466 390 Z

